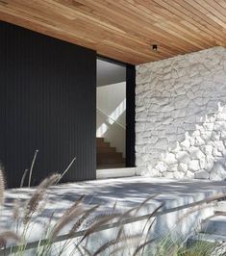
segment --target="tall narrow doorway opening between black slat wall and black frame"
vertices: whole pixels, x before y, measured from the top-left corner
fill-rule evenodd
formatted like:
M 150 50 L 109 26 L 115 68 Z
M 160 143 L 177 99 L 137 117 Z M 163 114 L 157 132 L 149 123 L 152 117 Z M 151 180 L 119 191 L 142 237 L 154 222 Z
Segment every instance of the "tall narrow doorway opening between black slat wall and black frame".
M 97 59 L 97 169 L 126 166 L 126 65 Z

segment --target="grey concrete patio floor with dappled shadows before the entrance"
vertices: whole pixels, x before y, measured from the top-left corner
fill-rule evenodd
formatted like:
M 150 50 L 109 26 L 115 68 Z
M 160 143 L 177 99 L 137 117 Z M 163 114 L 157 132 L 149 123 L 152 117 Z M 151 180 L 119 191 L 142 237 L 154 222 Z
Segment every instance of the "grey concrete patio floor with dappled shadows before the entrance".
M 27 199 L 34 188 L 11 189 L 6 192 L 5 207 L 11 208 L 14 199 Z M 226 181 L 172 180 L 150 177 L 125 177 L 95 181 L 60 184 L 48 190 L 49 202 L 55 210 L 74 202 L 82 194 L 85 203 L 112 207 L 132 207 L 146 198 L 156 195 L 155 200 L 162 201 L 165 207 L 179 206 L 219 192 L 226 192 Z M 57 204 L 56 204 L 57 203 Z

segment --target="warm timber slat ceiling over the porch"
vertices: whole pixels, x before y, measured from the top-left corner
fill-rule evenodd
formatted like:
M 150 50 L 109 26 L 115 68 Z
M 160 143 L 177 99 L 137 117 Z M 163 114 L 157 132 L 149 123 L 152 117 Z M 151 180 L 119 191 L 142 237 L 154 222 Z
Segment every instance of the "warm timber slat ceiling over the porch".
M 0 0 L 0 19 L 129 64 L 226 46 L 226 0 Z

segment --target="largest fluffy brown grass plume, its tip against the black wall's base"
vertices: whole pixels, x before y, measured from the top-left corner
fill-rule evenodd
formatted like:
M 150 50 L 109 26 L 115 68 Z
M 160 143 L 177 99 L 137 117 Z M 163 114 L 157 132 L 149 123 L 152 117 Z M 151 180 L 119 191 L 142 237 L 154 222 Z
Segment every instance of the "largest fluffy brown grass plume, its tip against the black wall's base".
M 52 174 L 50 177 L 45 178 L 39 185 L 37 190 L 33 193 L 32 197 L 27 203 L 26 212 L 24 216 L 24 223 L 27 223 L 31 216 L 38 210 L 39 203 L 43 200 L 46 190 L 54 185 L 60 177 L 60 174 Z

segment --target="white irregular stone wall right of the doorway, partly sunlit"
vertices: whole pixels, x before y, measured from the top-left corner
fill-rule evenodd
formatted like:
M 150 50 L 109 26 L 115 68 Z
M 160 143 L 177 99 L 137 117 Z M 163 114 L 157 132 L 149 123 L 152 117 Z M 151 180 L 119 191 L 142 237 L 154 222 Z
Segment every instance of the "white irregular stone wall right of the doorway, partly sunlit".
M 226 179 L 226 49 L 137 66 L 138 173 Z

